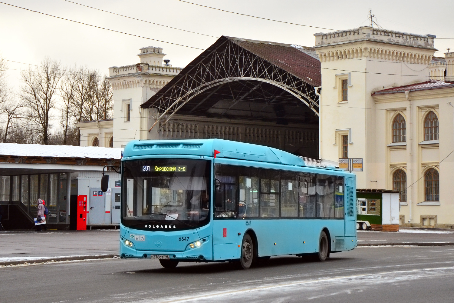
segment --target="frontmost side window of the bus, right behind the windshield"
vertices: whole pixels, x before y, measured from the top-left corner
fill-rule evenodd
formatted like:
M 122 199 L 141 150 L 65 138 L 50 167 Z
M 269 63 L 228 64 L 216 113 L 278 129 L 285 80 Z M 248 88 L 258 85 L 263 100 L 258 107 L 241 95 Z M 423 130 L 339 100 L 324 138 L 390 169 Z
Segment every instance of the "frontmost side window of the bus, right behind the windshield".
M 222 207 L 214 208 L 215 218 L 237 218 L 237 175 L 238 167 L 234 165 L 216 164 L 215 177 L 221 182 L 224 193 Z

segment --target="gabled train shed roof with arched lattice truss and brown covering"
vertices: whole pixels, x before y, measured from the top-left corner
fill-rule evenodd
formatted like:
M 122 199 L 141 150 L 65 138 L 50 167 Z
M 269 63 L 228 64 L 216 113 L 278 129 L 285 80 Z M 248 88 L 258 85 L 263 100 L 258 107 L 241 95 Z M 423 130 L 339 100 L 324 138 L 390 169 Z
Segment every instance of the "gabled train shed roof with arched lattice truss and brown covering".
M 232 83 L 242 83 L 243 88 L 234 93 Z M 320 61 L 312 48 L 221 36 L 142 107 L 157 109 L 151 130 L 159 122 L 167 123 L 197 96 L 204 94 L 186 112 L 193 112 L 212 94 L 220 94 L 221 88 L 228 87 L 232 103 L 225 112 L 248 95 L 257 98 L 257 92 L 261 91 L 268 98 L 265 106 L 285 94 L 287 99 L 293 96 L 292 99 L 306 104 L 318 116 L 316 86 L 321 86 Z M 280 93 L 273 87 L 279 88 Z

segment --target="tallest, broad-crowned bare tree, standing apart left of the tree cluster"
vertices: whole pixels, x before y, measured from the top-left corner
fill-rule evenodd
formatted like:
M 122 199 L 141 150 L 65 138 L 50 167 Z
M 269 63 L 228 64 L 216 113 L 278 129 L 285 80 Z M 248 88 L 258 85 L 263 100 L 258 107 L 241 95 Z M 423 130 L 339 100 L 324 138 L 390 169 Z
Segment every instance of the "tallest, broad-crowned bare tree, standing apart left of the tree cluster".
M 21 73 L 24 85 L 20 97 L 29 109 L 27 119 L 39 125 L 39 134 L 43 144 L 48 144 L 50 112 L 55 107 L 55 98 L 59 81 L 63 76 L 59 70 L 60 63 L 49 58 L 41 62 L 41 66 Z

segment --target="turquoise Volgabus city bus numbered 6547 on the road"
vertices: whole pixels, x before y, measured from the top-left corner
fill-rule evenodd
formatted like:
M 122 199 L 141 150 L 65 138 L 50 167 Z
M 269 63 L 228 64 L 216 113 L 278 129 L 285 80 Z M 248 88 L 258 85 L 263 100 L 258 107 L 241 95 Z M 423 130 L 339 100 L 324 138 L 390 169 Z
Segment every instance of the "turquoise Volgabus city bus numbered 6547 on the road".
M 120 257 L 230 261 L 356 246 L 355 174 L 221 139 L 129 142 L 121 162 Z

